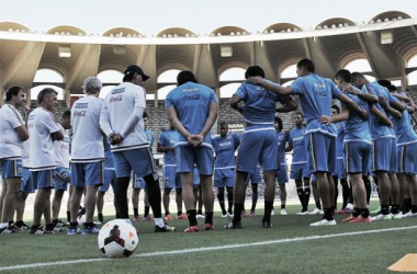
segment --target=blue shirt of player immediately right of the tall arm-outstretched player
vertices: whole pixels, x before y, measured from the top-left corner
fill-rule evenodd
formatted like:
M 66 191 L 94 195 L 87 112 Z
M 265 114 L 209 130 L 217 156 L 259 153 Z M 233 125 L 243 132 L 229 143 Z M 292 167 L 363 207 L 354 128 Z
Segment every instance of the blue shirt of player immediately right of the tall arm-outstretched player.
M 343 92 L 343 94 L 350 98 L 359 107 L 363 109 L 368 113 L 370 112 L 369 105 L 365 101 L 348 92 Z M 371 114 L 369 114 L 369 117 L 370 116 Z M 372 145 L 369 122 L 363 119 L 357 112 L 350 112 L 349 118 L 345 122 L 343 141 L 363 141 Z

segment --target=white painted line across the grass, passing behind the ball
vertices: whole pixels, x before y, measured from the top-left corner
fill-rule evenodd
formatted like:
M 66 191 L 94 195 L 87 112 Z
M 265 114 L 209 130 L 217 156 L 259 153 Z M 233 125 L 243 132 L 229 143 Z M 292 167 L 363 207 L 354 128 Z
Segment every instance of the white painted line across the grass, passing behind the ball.
M 206 247 L 206 248 L 195 248 L 195 249 L 159 251 L 159 252 L 136 254 L 136 255 L 132 255 L 132 258 L 146 258 L 146 256 L 158 256 L 158 255 L 176 255 L 176 254 L 194 253 L 194 252 L 203 252 L 203 251 L 215 251 L 215 250 L 238 249 L 238 248 L 268 246 L 268 244 L 277 244 L 277 243 L 289 243 L 289 242 L 300 242 L 300 241 L 323 240 L 323 239 L 339 238 L 339 237 L 346 237 L 346 236 L 358 236 L 358 235 L 371 235 L 371 233 L 392 232 L 392 231 L 409 230 L 409 229 L 417 229 L 417 226 L 397 227 L 397 228 L 384 228 L 384 229 L 363 230 L 363 231 L 354 231 L 354 232 L 322 235 L 322 236 L 317 235 L 317 236 L 295 237 L 295 238 L 280 239 L 280 240 L 260 241 L 260 242 L 248 242 L 248 243 L 237 243 L 237 244 L 218 246 L 218 247 Z M 1 271 L 34 269 L 34 267 L 46 267 L 46 266 L 66 265 L 66 264 L 78 264 L 78 263 L 91 263 L 91 262 L 101 262 L 101 261 L 112 261 L 112 260 L 114 260 L 114 259 L 95 258 L 95 259 L 57 261 L 57 262 L 46 262 L 46 263 L 18 264 L 18 265 L 10 265 L 10 266 L 1 266 L 0 267 L 0 272 Z

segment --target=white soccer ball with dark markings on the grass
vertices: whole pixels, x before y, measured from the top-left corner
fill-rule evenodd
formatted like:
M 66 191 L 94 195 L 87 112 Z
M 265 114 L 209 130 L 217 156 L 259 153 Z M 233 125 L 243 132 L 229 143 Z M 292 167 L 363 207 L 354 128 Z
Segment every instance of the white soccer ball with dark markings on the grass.
M 127 258 L 136 250 L 136 229 L 122 219 L 106 222 L 99 233 L 99 248 L 109 258 Z

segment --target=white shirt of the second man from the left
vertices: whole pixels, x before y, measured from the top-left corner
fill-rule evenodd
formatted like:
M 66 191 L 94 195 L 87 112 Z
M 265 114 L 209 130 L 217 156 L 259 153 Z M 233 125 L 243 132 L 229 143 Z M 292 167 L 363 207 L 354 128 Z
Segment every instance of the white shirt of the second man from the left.
M 29 115 L 30 168 L 31 171 L 55 169 L 54 144 L 50 134 L 60 130 L 54 114 L 36 107 Z

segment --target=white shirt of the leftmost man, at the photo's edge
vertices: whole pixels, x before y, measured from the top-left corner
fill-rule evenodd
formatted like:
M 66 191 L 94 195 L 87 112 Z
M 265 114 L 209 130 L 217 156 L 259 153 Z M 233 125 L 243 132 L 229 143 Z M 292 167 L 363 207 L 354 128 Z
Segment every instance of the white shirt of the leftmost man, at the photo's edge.
M 22 139 L 16 127 L 24 126 L 20 113 L 11 104 L 0 109 L 0 159 L 22 157 Z

